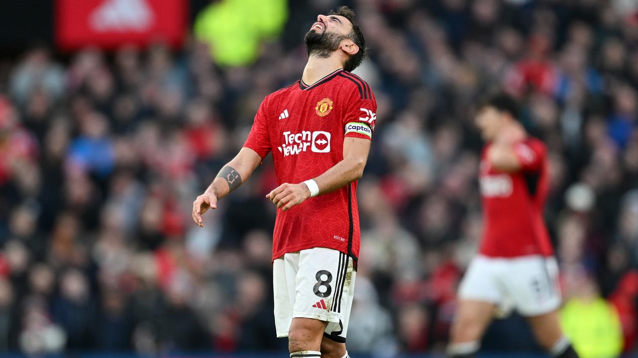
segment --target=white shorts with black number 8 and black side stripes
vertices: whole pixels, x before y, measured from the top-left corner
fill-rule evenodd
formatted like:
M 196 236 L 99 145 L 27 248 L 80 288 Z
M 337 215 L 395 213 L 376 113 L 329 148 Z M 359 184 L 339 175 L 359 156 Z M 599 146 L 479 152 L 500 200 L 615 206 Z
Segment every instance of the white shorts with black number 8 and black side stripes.
M 274 313 L 277 336 L 287 337 L 293 318 L 328 322 L 323 333 L 346 341 L 355 286 L 352 257 L 330 248 L 309 248 L 273 262 Z

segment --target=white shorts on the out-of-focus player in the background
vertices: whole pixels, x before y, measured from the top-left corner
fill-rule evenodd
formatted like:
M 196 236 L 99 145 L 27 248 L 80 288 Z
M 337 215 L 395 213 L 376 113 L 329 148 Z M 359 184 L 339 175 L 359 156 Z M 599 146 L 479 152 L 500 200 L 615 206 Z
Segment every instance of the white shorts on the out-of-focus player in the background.
M 494 303 L 501 313 L 516 308 L 526 317 L 543 315 L 561 304 L 558 264 L 554 257 L 540 255 L 479 255 L 461 281 L 459 297 Z

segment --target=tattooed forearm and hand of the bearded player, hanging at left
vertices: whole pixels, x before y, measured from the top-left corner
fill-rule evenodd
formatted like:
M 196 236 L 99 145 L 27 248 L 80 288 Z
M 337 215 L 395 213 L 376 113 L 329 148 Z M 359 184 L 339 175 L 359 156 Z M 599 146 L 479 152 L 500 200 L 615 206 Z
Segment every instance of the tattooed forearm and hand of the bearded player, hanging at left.
M 262 162 L 262 157 L 250 148 L 241 148 L 232 161 L 221 168 L 211 185 L 193 201 L 193 221 L 200 227 L 204 227 L 202 214 L 209 209 L 217 208 L 217 201 L 228 195 L 239 185 L 246 182 L 255 168 Z

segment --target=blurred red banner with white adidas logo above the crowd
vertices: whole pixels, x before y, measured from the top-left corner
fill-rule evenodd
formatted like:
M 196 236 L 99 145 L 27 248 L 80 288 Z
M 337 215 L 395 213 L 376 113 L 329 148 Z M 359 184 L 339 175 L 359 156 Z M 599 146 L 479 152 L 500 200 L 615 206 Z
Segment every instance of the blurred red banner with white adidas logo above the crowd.
M 179 47 L 186 0 L 57 0 L 56 41 L 64 50 L 112 49 L 157 41 Z

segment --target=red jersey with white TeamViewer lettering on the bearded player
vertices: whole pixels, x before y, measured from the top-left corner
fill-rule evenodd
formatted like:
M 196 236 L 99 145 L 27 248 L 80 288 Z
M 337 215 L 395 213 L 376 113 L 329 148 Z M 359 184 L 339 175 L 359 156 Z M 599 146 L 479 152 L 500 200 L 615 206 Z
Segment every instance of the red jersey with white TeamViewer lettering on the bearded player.
M 262 159 L 272 152 L 277 184 L 316 178 L 343 160 L 346 137 L 370 140 L 376 100 L 364 80 L 339 69 L 313 85 L 299 80 L 265 97 L 244 147 Z M 357 259 L 357 182 L 277 210 L 272 258 L 313 247 Z

